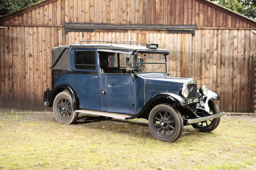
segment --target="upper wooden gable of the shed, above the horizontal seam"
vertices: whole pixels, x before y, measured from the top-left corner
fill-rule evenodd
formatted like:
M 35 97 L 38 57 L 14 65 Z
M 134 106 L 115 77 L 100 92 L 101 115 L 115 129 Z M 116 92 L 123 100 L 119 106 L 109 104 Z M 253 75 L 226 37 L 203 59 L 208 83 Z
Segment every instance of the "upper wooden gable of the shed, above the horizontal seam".
M 21 12 L 20 15 L 4 21 L 4 24 L 100 23 L 256 27 L 252 21 L 214 7 L 204 0 L 49 0 L 49 2 L 52 3 L 24 14 Z

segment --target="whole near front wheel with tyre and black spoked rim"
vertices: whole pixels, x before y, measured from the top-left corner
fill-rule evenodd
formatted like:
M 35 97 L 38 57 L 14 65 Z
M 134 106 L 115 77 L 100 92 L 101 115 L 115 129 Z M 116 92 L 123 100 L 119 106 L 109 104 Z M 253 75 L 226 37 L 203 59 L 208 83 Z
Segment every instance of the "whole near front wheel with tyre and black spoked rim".
M 173 142 L 182 133 L 183 120 L 180 113 L 172 106 L 160 104 L 150 111 L 148 125 L 156 139 Z

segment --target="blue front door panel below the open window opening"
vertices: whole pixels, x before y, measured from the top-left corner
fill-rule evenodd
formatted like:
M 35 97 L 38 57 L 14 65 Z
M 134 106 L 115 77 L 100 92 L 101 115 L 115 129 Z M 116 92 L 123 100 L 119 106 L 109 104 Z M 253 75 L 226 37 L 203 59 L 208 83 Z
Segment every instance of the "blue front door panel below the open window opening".
M 99 74 L 100 110 L 134 114 L 134 80 L 130 74 Z

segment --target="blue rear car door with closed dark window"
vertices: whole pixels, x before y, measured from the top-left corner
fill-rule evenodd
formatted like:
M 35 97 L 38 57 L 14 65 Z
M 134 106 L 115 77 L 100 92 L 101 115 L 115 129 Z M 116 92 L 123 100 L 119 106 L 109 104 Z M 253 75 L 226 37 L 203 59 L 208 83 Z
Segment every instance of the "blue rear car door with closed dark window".
M 79 108 L 100 110 L 98 60 L 95 49 L 71 49 L 70 84 L 79 98 Z

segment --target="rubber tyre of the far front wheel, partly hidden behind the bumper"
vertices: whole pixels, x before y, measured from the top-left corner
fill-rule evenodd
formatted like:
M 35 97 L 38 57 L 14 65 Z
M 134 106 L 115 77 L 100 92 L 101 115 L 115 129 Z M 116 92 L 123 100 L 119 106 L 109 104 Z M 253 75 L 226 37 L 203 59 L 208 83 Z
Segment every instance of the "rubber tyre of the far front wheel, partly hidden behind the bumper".
M 208 105 L 209 105 L 209 107 L 212 110 L 212 113 L 214 115 L 220 113 L 220 109 L 219 109 L 218 105 L 214 101 L 209 100 Z M 216 127 L 218 127 L 219 123 L 220 123 L 220 117 L 218 117 L 216 119 L 213 119 L 212 123 L 208 127 L 201 127 L 197 123 L 192 124 L 192 127 L 194 127 L 199 132 L 211 132 L 214 129 L 216 129 Z

